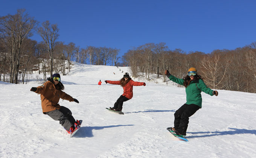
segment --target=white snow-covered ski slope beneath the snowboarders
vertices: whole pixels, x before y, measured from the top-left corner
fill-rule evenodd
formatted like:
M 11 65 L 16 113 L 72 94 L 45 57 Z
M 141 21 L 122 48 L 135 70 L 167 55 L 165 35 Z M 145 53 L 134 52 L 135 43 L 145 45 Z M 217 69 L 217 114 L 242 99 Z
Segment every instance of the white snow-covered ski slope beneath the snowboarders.
M 216 97 L 202 92 L 202 108 L 189 119 L 189 141 L 176 141 L 166 128 L 173 126 L 174 112 L 186 102 L 185 88 L 132 77 L 146 86 L 133 87 L 133 98 L 123 104 L 124 115 L 115 114 L 105 108 L 113 107 L 123 88 L 104 81 L 117 81 L 124 72 L 130 73 L 129 68 L 73 62 L 69 75 L 61 75 L 64 92 L 79 104 L 62 99 L 59 104 L 83 120 L 72 138 L 42 113 L 40 95 L 30 91 L 43 83 L 42 74 L 28 76 L 24 85 L 0 82 L 0 157 L 256 157 L 256 94 L 218 90 Z

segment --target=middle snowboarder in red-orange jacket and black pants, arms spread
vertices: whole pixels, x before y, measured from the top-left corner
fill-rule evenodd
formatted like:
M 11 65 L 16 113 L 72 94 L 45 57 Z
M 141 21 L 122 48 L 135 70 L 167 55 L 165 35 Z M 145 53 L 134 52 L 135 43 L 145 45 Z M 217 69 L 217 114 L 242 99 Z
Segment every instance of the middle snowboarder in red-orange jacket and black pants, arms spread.
M 114 85 L 121 85 L 123 87 L 123 94 L 116 100 L 114 103 L 114 107 L 110 109 L 113 111 L 122 111 L 123 102 L 130 100 L 133 97 L 133 86 L 145 86 L 145 82 L 135 82 L 129 76 L 129 73 L 125 73 L 123 78 L 119 81 L 105 81 L 106 84 L 114 84 Z

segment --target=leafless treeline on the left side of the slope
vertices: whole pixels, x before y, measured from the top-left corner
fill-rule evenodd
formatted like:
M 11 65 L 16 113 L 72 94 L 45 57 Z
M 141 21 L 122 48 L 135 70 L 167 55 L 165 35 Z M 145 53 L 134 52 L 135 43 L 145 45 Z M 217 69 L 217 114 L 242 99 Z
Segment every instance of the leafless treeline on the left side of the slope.
M 30 40 L 38 33 L 42 41 Z M 0 81 L 24 84 L 25 75 L 39 70 L 52 76 L 53 72 L 66 75 L 71 61 L 94 65 L 117 65 L 120 52 L 116 48 L 87 46 L 80 48 L 75 43 L 57 41 L 59 28 L 49 21 L 40 23 L 25 9 L 18 9 L 15 15 L 0 17 Z M 66 64 L 65 61 L 68 61 Z M 67 71 L 66 71 L 67 69 Z

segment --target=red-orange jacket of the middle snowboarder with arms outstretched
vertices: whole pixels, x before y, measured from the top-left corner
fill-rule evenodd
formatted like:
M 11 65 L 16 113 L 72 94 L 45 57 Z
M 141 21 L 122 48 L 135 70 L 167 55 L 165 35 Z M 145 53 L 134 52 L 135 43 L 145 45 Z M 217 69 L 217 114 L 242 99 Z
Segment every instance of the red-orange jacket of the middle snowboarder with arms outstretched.
M 108 84 L 114 84 L 114 85 L 120 85 L 120 81 L 107 81 Z M 144 85 L 144 82 L 135 82 L 133 80 L 130 80 L 125 86 L 123 86 L 123 94 L 122 96 L 125 96 L 128 99 L 131 99 L 133 97 L 133 86 L 142 86 Z

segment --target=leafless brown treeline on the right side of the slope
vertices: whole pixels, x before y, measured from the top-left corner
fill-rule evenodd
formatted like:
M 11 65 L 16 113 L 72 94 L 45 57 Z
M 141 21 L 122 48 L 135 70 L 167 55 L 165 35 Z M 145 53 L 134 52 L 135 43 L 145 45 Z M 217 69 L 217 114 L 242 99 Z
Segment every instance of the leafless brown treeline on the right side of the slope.
M 163 75 L 166 69 L 178 78 L 187 75 L 190 67 L 197 68 L 207 86 L 213 89 L 256 93 L 256 43 L 235 50 L 214 50 L 184 53 L 169 50 L 165 43 L 147 43 L 123 56 L 131 66 L 133 76 Z M 163 77 L 163 82 L 166 82 Z

